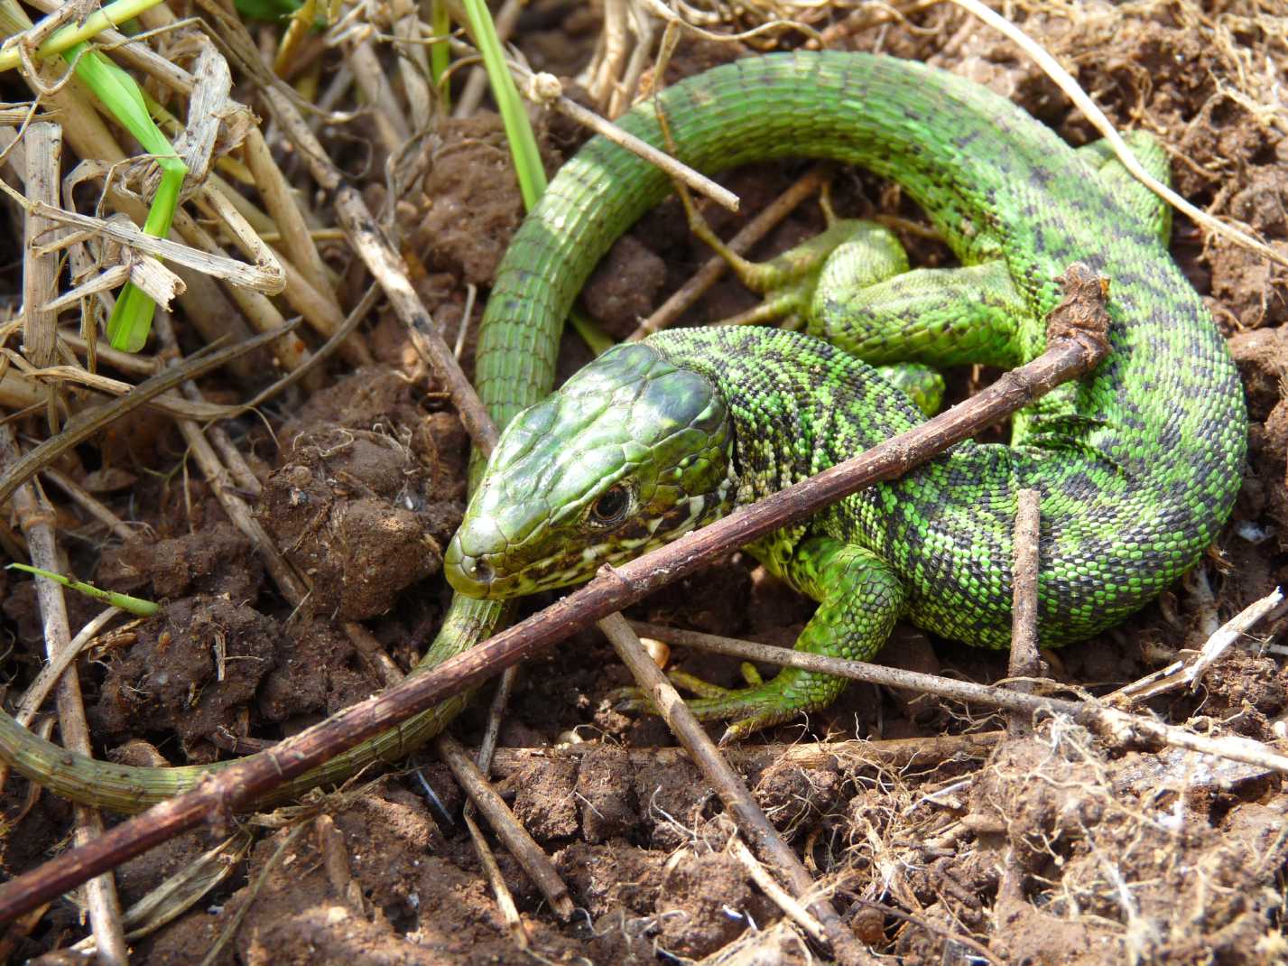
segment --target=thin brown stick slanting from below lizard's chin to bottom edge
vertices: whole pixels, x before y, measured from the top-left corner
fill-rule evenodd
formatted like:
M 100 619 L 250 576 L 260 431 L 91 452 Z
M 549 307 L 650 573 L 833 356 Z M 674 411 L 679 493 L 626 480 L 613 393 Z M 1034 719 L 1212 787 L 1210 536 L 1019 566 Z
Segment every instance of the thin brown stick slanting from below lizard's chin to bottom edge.
M 702 774 L 715 787 L 716 795 L 720 796 L 729 815 L 738 823 L 738 831 L 755 842 L 756 851 L 774 866 L 778 875 L 791 885 L 796 898 L 804 902 L 814 891 L 814 880 L 809 871 L 801 864 L 791 846 L 778 835 L 778 829 L 765 818 L 765 813 L 760 810 L 756 800 L 747 791 L 747 786 L 720 753 L 698 719 L 689 711 L 689 706 L 684 703 L 684 698 L 680 697 L 675 685 L 653 663 L 653 658 L 644 650 L 635 631 L 626 623 L 626 618 L 621 614 L 611 614 L 599 622 L 599 629 L 613 645 L 621 662 L 630 668 L 635 680 L 648 693 L 653 707 L 666 720 L 671 733 L 680 739 L 680 744 L 689 752 L 689 757 L 697 762 Z M 822 896 L 815 896 L 809 908 L 822 923 L 823 933 L 837 958 L 857 958 L 857 951 L 851 948 L 855 944 L 854 935 L 841 923 L 841 917 L 836 914 L 832 903 Z

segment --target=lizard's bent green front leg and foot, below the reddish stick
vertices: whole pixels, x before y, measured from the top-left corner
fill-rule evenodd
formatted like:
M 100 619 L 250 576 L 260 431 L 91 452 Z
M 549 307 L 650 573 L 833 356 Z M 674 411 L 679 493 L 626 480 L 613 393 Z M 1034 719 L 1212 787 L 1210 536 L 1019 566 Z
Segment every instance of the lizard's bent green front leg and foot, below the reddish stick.
M 890 565 L 866 547 L 832 537 L 802 542 L 782 574 L 819 601 L 796 639 L 796 649 L 864 661 L 886 643 L 907 591 Z M 802 711 L 827 707 L 845 689 L 844 677 L 784 667 L 772 680 L 689 701 L 701 719 L 734 719 L 721 742 L 743 738 Z

